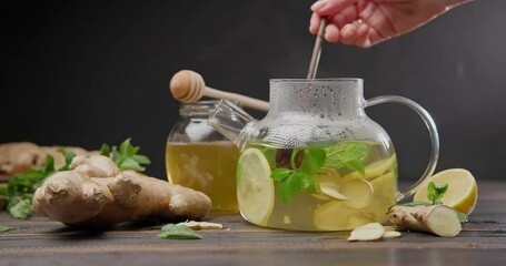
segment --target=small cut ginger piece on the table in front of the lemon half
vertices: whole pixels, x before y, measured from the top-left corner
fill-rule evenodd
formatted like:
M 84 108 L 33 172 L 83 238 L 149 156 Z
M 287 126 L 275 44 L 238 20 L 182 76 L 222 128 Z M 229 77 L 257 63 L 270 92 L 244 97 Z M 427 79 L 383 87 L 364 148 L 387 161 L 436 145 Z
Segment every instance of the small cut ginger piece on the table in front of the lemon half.
M 445 205 L 393 206 L 389 219 L 401 229 L 428 232 L 438 236 L 456 236 L 462 231 L 457 213 Z

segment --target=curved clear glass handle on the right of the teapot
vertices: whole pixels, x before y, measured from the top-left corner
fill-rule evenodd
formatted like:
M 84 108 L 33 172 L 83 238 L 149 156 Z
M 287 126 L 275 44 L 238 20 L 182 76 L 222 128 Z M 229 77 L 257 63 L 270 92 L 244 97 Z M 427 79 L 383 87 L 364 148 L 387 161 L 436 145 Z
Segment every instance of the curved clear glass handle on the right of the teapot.
M 397 194 L 397 202 L 403 201 L 404 198 L 413 195 L 421 184 L 434 174 L 434 171 L 437 165 L 437 160 L 439 158 L 439 135 L 437 133 L 436 123 L 434 123 L 433 117 L 430 114 L 421 108 L 418 103 L 403 96 L 397 95 L 385 95 L 385 96 L 377 96 L 369 100 L 366 100 L 366 108 L 373 106 L 376 104 L 381 103 L 400 103 L 407 105 L 411 110 L 414 110 L 420 117 L 424 120 L 425 125 L 428 129 L 430 135 L 430 144 L 431 144 L 431 152 L 430 152 L 430 160 L 428 162 L 427 168 L 425 170 L 424 175 L 414 184 L 411 185 L 406 192 L 399 192 Z

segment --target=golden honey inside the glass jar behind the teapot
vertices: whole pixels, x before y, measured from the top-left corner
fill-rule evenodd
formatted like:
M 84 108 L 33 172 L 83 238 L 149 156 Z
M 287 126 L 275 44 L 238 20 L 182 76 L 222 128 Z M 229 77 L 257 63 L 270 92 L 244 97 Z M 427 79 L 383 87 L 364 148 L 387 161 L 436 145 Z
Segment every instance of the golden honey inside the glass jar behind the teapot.
M 212 213 L 239 212 L 236 197 L 238 149 L 230 142 L 167 143 L 169 182 L 204 192 Z

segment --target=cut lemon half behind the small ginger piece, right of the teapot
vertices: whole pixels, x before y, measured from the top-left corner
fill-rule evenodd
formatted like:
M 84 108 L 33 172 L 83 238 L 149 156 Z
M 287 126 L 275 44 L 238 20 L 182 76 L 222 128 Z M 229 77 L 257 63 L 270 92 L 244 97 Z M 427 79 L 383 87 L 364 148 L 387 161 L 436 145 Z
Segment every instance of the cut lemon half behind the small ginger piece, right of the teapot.
M 469 171 L 450 168 L 430 176 L 427 182 L 415 193 L 415 202 L 427 201 L 428 183 L 436 185 L 448 184 L 448 191 L 441 197 L 443 204 L 469 215 L 476 206 L 478 185 Z

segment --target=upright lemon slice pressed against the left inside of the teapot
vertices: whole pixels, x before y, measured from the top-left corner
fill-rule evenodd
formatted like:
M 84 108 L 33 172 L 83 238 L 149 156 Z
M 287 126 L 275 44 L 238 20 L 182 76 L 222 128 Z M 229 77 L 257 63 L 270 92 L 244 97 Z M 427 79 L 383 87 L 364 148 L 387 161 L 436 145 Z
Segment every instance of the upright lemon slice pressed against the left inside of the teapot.
M 242 216 L 265 226 L 274 208 L 274 182 L 269 162 L 258 149 L 250 147 L 239 157 L 237 201 Z

